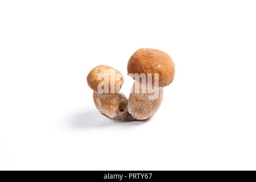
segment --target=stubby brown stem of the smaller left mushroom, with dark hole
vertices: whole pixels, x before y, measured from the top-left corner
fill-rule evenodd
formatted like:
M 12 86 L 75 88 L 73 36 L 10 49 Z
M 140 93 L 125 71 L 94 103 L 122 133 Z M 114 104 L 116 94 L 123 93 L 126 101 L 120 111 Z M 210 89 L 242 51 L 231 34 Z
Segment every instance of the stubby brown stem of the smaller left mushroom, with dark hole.
M 135 121 L 128 113 L 128 101 L 124 94 L 93 92 L 93 101 L 102 115 L 116 121 Z

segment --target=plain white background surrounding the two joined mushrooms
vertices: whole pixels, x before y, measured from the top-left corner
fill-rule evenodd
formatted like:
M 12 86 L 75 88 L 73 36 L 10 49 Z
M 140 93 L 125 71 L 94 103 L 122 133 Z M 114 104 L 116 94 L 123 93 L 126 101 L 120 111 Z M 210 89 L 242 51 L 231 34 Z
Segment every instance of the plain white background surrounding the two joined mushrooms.
M 256 169 L 255 1 L 1 1 L 0 169 Z M 139 48 L 174 82 L 147 122 L 98 113 L 100 64 Z

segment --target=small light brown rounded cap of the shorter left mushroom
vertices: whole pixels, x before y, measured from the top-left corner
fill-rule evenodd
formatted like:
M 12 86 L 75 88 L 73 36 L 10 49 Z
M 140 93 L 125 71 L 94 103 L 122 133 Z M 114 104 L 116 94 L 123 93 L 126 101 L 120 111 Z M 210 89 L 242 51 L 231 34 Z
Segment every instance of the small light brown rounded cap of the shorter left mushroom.
M 117 69 L 108 65 L 98 65 L 88 74 L 87 83 L 95 92 L 100 92 L 99 86 L 104 93 L 116 93 L 122 87 L 123 76 Z

